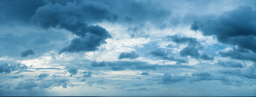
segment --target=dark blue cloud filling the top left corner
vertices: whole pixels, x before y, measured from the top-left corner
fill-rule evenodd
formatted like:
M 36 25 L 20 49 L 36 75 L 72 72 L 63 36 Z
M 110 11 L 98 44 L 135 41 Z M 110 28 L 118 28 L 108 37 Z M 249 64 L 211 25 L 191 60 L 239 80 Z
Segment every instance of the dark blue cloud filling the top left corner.
M 43 6 L 43 0 L 2 0 L 0 2 L 0 24 L 13 24 L 17 22 L 30 23 L 31 17 L 34 15 L 36 9 Z M 13 7 L 15 6 L 15 7 Z

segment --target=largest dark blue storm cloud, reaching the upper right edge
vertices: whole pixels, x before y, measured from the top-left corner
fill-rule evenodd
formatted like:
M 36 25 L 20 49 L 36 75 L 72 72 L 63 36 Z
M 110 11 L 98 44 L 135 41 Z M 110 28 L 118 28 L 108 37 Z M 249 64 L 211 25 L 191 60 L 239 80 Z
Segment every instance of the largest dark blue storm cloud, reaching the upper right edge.
M 191 28 L 192 30 L 199 29 L 205 36 L 214 35 L 223 44 L 236 45 L 241 49 L 256 53 L 256 44 L 254 42 L 256 40 L 255 16 L 256 11 L 251 6 L 238 6 L 233 11 L 226 11 L 217 19 L 209 20 L 205 23 L 194 21 Z M 198 28 L 196 28 L 196 25 Z M 233 53 L 239 55 L 242 52 Z M 232 55 L 227 56 L 232 57 Z

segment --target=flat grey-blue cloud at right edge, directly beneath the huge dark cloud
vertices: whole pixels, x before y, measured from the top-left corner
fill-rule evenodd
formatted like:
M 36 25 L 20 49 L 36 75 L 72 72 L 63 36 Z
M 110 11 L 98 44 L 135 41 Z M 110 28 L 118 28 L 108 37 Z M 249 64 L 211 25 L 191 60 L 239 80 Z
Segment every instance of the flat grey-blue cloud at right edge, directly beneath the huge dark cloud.
M 233 47 L 233 49 L 231 50 L 219 51 L 218 53 L 222 57 L 230 57 L 233 59 L 249 60 L 256 62 L 256 53 L 253 53 L 252 51 L 248 51 L 247 49 L 240 47 Z

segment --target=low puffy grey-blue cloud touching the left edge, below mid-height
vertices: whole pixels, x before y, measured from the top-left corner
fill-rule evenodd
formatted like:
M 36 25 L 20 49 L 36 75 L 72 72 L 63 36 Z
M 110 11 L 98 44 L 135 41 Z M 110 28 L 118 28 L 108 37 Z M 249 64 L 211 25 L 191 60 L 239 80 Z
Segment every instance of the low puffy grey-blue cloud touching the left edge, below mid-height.
M 28 66 L 25 64 L 17 63 L 14 65 L 9 65 L 8 63 L 0 64 L 0 73 L 10 73 L 14 70 L 26 70 L 28 69 Z

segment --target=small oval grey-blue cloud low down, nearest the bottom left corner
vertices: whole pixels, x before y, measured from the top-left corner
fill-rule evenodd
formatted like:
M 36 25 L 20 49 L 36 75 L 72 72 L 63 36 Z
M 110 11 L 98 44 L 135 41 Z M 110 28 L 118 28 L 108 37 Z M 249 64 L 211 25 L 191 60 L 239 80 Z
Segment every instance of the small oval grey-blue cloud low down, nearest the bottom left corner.
M 33 81 L 21 81 L 15 86 L 15 90 L 32 90 L 37 86 Z

